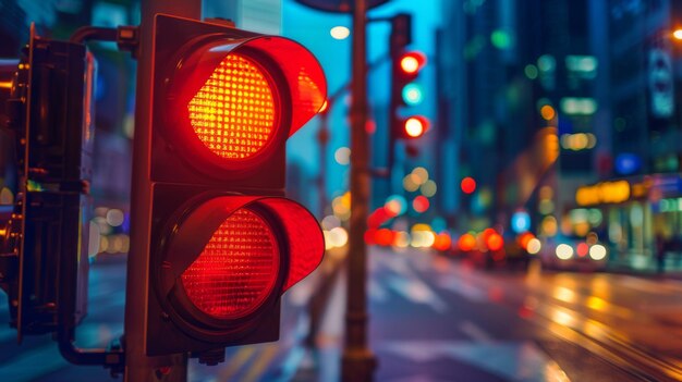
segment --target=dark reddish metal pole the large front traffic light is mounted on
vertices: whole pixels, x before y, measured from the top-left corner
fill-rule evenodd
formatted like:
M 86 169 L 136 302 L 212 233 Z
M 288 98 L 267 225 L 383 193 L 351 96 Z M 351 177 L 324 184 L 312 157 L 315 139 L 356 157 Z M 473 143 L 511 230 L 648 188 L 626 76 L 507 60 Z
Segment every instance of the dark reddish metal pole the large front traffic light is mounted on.
M 149 147 L 151 139 L 154 17 L 157 13 L 199 20 L 202 2 L 194 0 L 144 0 L 141 4 L 141 40 L 137 51 L 135 95 L 135 139 L 131 193 L 131 250 L 125 287 L 125 381 L 184 382 L 187 355 L 147 357 L 145 355 L 147 299 L 149 298 Z

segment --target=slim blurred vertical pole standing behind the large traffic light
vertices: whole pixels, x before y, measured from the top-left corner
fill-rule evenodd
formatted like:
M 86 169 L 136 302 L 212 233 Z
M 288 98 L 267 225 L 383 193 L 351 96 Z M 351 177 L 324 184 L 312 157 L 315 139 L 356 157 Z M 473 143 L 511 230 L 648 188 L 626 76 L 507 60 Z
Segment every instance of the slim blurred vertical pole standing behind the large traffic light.
M 373 380 L 376 359 L 367 347 L 367 230 L 369 202 L 369 145 L 365 130 L 367 120 L 367 61 L 365 0 L 355 1 L 353 10 L 353 75 L 351 107 L 351 232 L 348 262 L 348 301 L 345 345 L 341 380 L 365 382 Z

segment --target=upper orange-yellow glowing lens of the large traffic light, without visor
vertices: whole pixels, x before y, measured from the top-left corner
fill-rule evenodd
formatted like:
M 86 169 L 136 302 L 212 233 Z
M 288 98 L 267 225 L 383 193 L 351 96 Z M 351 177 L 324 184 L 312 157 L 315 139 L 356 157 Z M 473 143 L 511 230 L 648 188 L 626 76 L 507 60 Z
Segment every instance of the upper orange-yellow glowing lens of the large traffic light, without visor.
M 210 151 L 239 160 L 257 155 L 275 130 L 273 91 L 260 66 L 231 53 L 187 104 L 194 133 Z

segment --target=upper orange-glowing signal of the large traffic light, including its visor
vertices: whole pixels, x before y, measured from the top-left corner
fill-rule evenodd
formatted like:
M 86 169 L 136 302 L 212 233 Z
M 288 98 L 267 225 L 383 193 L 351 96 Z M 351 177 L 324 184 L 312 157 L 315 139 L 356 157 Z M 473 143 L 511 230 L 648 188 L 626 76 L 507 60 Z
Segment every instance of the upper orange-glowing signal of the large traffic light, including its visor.
M 244 170 L 270 158 L 324 106 L 326 81 L 303 46 L 275 36 L 191 41 L 169 67 L 166 115 L 199 170 Z

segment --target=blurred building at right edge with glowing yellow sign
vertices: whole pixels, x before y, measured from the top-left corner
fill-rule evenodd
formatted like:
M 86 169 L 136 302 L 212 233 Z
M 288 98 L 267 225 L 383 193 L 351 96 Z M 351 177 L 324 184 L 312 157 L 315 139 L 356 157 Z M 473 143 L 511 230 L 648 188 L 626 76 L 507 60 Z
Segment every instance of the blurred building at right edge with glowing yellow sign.
M 666 242 L 668 252 L 679 256 L 682 249 L 682 41 L 672 37 L 682 3 L 614 0 L 590 7 L 601 15 L 590 22 L 600 63 L 600 182 L 581 187 L 576 202 L 602 212 L 613 261 L 651 268 L 657 241 Z M 617 198 L 599 194 L 617 183 L 623 188 Z

